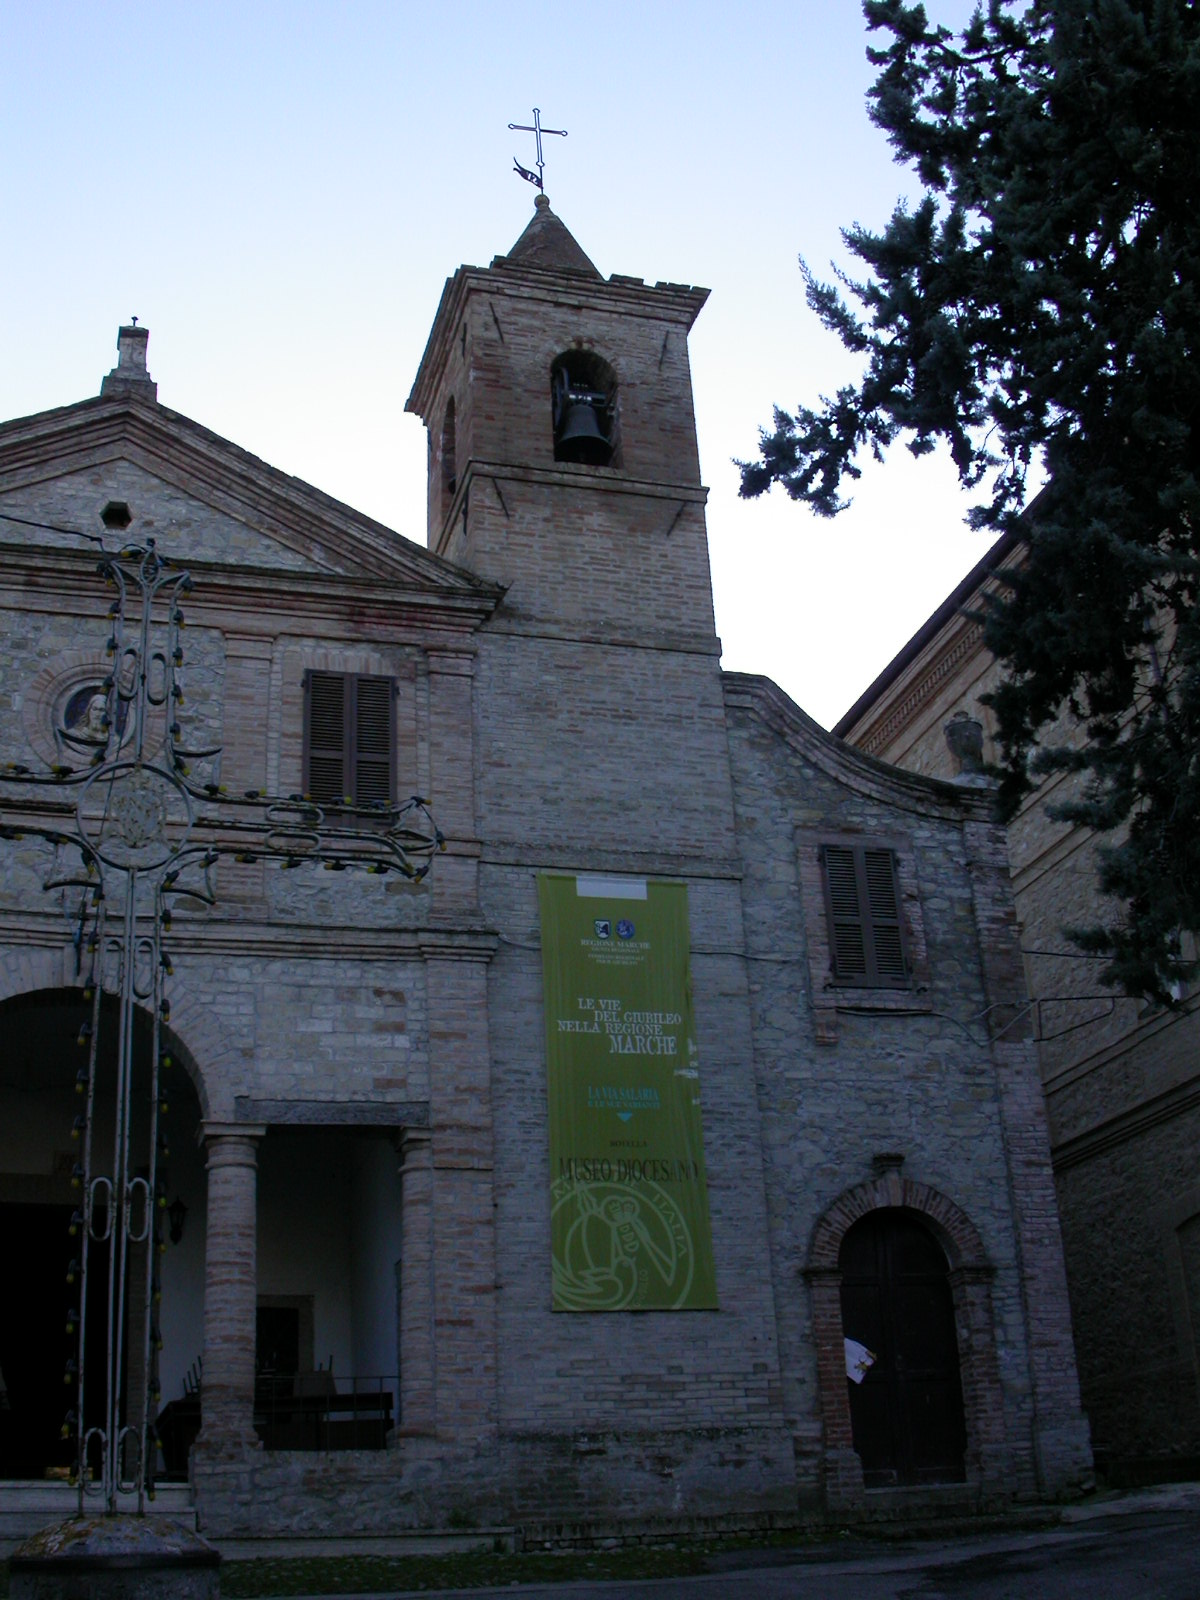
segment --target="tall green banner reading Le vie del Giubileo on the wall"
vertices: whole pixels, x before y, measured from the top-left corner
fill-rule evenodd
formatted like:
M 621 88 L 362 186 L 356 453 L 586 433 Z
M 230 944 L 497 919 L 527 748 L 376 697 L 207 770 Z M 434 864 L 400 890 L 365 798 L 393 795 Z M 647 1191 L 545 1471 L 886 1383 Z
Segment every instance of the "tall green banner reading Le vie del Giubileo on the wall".
M 688 890 L 538 878 L 555 1310 L 717 1306 Z

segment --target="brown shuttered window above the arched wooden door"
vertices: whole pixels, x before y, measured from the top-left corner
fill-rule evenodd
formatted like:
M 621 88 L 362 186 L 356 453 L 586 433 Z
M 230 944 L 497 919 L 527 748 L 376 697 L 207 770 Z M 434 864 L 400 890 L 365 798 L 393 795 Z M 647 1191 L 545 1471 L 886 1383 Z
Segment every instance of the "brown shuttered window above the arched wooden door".
M 870 845 L 824 845 L 821 861 L 834 981 L 866 989 L 909 982 L 896 856 Z

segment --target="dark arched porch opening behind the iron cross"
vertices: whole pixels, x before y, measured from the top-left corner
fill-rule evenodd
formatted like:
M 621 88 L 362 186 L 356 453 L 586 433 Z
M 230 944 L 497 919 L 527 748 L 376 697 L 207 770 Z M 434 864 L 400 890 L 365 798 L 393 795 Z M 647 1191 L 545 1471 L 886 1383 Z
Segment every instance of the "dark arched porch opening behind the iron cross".
M 77 1403 L 75 1318 L 80 1309 L 82 1258 L 82 1114 L 86 1107 L 80 1069 L 88 1051 L 80 1030 L 91 1006 L 82 989 L 42 989 L 0 1005 L 0 1373 L 6 1405 L 0 1406 L 0 1478 L 66 1477 L 70 1440 L 62 1438 L 67 1411 Z M 98 1171 L 110 1170 L 115 1101 L 115 1002 L 101 1006 L 93 1152 Z M 147 1093 L 146 1062 L 150 1019 L 134 1014 L 134 1098 Z M 165 1251 L 158 1266 L 162 1306 L 155 1326 L 162 1338 L 157 1370 L 163 1402 L 181 1389 L 189 1362 L 200 1354 L 197 1334 L 203 1314 L 205 1174 L 197 1149 L 200 1101 L 179 1051 L 171 1046 L 170 1077 L 160 1080 L 158 1181 L 163 1208 L 181 1210 L 163 1227 Z M 146 1141 L 133 1142 L 133 1166 L 149 1160 Z M 179 1226 L 176 1226 L 179 1224 Z M 74 1229 L 74 1232 L 72 1232 Z M 176 1238 L 178 1234 L 178 1238 Z M 75 1270 L 72 1270 L 72 1262 Z M 86 1414 L 104 1389 L 107 1245 L 94 1242 L 90 1254 L 86 1312 Z M 142 1301 L 144 1304 L 144 1301 Z M 141 1354 L 131 1357 L 141 1365 Z M 144 1368 L 142 1368 L 144 1370 Z M 125 1366 L 125 1381 L 138 1387 L 139 1373 Z

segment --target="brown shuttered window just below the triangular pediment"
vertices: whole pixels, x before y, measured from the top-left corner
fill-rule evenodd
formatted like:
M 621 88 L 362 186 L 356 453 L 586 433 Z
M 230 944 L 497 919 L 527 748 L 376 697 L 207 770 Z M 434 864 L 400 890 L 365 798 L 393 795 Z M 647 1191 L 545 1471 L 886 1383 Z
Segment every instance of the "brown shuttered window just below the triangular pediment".
M 394 798 L 394 680 L 304 674 L 304 794 L 370 805 Z

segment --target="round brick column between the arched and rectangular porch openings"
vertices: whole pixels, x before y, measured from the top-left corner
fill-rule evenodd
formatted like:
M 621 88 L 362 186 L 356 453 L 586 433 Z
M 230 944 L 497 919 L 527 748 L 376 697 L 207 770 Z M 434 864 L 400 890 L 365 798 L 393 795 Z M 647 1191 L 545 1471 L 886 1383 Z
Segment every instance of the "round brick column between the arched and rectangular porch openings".
M 258 1141 L 262 1126 L 205 1123 L 208 1248 L 202 1454 L 258 1450 L 254 1434 L 254 1314 L 258 1306 Z

